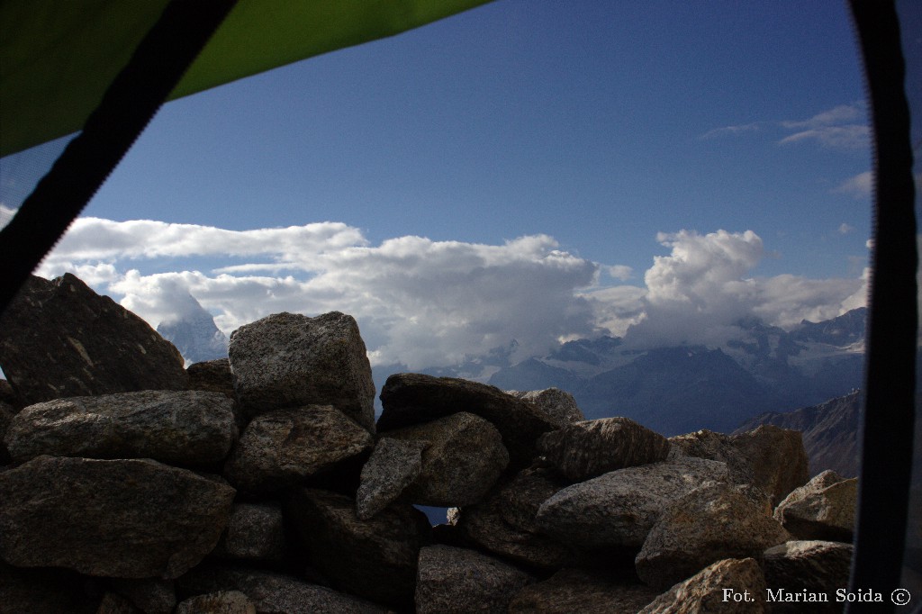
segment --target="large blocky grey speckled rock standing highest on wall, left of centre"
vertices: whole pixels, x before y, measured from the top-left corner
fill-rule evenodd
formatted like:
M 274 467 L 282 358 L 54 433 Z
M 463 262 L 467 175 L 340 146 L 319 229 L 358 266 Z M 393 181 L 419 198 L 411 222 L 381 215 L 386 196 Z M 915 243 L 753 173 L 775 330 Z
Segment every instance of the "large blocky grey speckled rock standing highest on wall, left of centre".
M 351 315 L 275 313 L 231 333 L 234 388 L 243 411 L 332 405 L 374 432 L 374 383 Z

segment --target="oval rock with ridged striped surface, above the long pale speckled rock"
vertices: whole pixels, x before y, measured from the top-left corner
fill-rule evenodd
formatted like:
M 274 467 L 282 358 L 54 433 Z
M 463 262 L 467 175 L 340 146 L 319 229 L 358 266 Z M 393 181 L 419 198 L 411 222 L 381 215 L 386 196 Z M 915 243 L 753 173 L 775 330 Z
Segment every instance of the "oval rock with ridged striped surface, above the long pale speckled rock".
M 584 420 L 538 438 L 538 452 L 566 478 L 583 481 L 628 466 L 665 460 L 665 437 L 628 418 Z

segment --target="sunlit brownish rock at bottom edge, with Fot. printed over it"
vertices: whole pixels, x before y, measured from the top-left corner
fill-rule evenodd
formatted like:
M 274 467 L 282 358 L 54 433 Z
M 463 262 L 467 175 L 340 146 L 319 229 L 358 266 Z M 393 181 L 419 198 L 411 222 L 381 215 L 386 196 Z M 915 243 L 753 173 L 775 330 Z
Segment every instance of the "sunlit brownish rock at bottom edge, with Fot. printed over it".
M 724 600 L 724 591 L 744 599 Z M 765 604 L 765 578 L 755 559 L 727 559 L 717 561 L 694 574 L 688 580 L 675 584 L 666 593 L 638 614 L 751 614 L 767 612 Z

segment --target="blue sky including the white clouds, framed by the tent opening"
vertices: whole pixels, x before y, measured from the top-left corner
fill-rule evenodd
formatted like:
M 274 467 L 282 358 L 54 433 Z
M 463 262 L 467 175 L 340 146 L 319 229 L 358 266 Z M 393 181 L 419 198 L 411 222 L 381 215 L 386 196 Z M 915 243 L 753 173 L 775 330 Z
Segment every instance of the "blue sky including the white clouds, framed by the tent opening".
M 168 104 L 40 273 L 372 362 L 706 342 L 863 304 L 866 116 L 844 2 L 500 0 Z

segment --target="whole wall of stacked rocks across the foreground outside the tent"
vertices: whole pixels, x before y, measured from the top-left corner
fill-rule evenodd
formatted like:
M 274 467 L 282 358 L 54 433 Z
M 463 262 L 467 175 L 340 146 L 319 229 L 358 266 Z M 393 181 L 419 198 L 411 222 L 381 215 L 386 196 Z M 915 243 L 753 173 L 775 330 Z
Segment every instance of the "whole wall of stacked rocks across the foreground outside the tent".
M 229 360 L 154 390 L 103 377 L 93 326 L 55 316 L 91 290 L 42 282 L 45 298 L 20 295 L 0 326 L 13 384 L 0 396 L 0 588 L 14 611 L 752 612 L 777 606 L 766 586 L 834 595 L 847 582 L 857 480 L 808 482 L 797 431 L 667 439 L 582 419 L 559 392 L 420 373 L 388 379 L 375 420 L 343 313 L 268 316 L 234 332 Z M 36 311 L 82 366 L 7 360 L 32 335 L 9 323 Z M 106 352 L 142 372 L 181 367 L 134 343 L 149 326 L 112 318 L 132 330 Z M 58 396 L 67 378 L 89 395 Z M 431 527 L 414 504 L 451 507 L 450 523 Z M 721 601 L 727 587 L 756 600 Z

